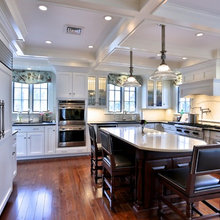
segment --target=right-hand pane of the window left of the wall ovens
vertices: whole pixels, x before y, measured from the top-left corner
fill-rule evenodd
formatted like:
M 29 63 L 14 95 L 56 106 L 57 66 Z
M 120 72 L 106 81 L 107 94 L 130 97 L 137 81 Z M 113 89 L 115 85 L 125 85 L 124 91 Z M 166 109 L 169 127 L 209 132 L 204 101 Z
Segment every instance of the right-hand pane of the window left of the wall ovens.
M 33 112 L 44 112 L 47 109 L 47 83 L 33 84 Z

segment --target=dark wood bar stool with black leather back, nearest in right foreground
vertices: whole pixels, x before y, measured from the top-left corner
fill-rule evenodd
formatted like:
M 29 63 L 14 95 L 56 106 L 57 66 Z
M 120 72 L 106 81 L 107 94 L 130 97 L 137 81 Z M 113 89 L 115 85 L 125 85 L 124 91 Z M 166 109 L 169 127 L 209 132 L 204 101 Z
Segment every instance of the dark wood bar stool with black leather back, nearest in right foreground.
M 160 196 L 158 200 L 158 215 L 168 218 L 163 210 L 162 202 L 183 219 L 210 219 L 220 216 L 220 210 L 206 200 L 220 198 L 220 145 L 194 146 L 190 167 L 176 168 L 159 172 Z M 169 189 L 181 199 L 186 201 L 186 213 L 180 211 L 173 203 L 171 197 L 165 195 L 164 189 Z M 204 215 L 195 206 L 201 201 L 214 214 Z M 194 213 L 197 216 L 194 215 Z

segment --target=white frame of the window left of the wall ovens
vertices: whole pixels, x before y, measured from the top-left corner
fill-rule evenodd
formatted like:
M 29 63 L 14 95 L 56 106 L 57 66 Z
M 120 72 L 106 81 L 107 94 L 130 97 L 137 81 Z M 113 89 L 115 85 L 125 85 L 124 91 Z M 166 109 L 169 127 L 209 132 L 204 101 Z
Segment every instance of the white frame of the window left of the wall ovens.
M 13 91 L 13 96 L 12 96 L 12 109 L 13 113 L 18 113 L 19 111 L 15 111 L 14 109 L 14 93 L 15 93 L 15 82 L 12 82 L 12 91 Z M 27 84 L 27 83 L 26 83 Z M 49 83 L 47 84 L 47 110 L 42 111 L 42 112 L 47 112 L 49 110 Z M 31 109 L 32 113 L 39 113 L 39 111 L 34 111 L 34 84 L 28 84 L 28 109 Z M 24 113 L 27 113 L 28 111 L 21 111 Z

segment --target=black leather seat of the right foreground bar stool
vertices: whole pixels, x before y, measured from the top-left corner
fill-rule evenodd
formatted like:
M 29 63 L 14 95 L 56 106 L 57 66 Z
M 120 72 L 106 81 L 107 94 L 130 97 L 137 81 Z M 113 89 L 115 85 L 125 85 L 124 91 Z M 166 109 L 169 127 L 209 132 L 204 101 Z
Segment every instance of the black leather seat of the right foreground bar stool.
M 189 176 L 189 167 L 165 170 L 160 172 L 159 176 L 172 182 L 174 185 L 183 188 L 183 190 L 186 190 Z M 195 179 L 196 191 L 210 189 L 214 187 L 220 187 L 220 183 L 219 179 L 211 175 L 197 176 Z

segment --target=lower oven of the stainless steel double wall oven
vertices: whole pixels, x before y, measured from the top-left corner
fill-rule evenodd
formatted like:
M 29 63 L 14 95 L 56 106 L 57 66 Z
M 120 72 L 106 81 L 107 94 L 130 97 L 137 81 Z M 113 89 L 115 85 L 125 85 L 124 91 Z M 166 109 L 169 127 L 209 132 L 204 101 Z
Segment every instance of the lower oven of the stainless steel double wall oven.
M 59 147 L 85 146 L 85 126 L 68 125 L 59 127 Z

